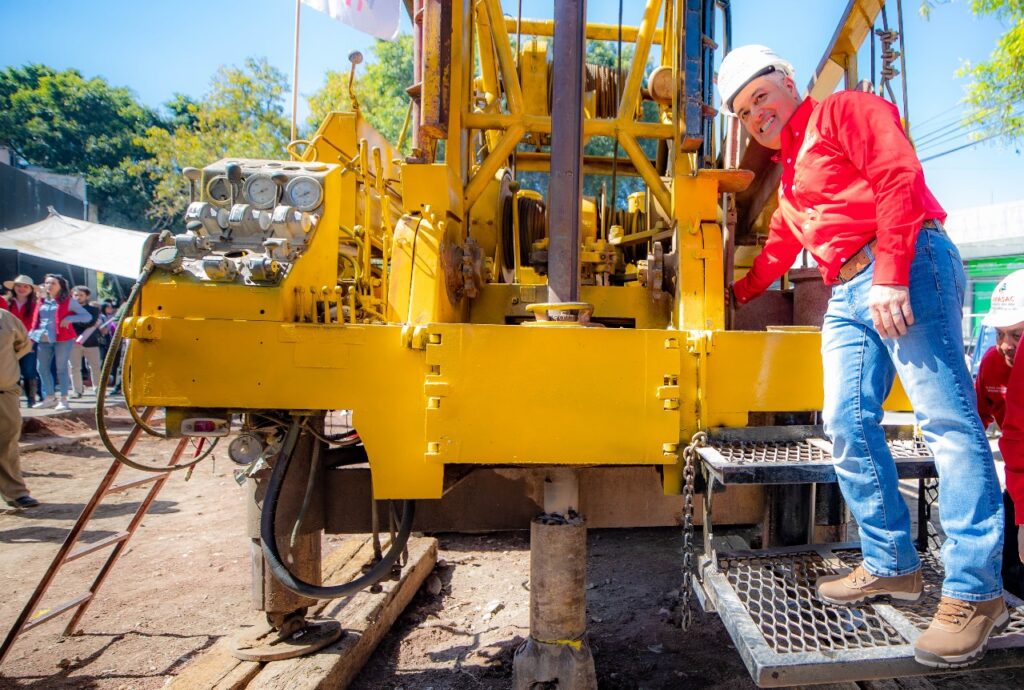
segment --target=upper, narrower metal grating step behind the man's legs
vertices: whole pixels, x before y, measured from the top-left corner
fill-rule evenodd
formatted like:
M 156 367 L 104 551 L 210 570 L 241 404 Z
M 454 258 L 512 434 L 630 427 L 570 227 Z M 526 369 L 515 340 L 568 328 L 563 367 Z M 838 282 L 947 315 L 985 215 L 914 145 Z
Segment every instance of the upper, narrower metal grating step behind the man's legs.
M 697 448 L 705 467 L 722 484 L 806 484 L 836 481 L 831 443 L 819 426 L 716 429 Z M 925 443 L 902 427 L 887 429 L 901 479 L 935 477 Z

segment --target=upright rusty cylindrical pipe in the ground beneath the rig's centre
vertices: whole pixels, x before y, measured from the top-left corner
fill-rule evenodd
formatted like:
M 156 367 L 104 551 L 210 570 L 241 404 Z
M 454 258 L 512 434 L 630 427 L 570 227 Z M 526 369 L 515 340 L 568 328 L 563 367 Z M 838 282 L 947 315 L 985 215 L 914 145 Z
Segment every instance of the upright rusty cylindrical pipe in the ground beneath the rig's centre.
M 587 525 L 575 513 L 579 477 L 556 470 L 545 483 L 545 513 L 529 529 L 529 639 L 516 651 L 515 690 L 596 690 L 587 644 Z

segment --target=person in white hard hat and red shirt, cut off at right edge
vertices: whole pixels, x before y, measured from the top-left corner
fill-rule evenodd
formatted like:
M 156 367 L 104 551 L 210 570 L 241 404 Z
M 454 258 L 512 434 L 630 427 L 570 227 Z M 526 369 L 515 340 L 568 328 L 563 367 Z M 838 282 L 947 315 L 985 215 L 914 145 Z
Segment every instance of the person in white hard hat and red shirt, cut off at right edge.
M 1024 374 L 1021 374 L 1024 366 L 1014 369 L 1017 348 L 1021 337 L 1024 337 L 1024 270 L 1015 271 L 999 282 L 992 292 L 989 311 L 982 322 L 995 329 L 995 345 L 985 353 L 978 368 L 975 383 L 978 413 L 982 424 L 988 426 L 995 422 L 1002 430 L 999 450 L 1006 464 L 1009 494 L 1006 508 L 1010 512 L 1007 516 L 1008 544 L 1004 559 L 1016 556 L 1024 563 Z M 1014 376 L 1015 371 L 1017 376 Z M 1017 526 L 1016 530 L 1014 526 Z M 1016 541 L 1013 536 L 1015 531 Z M 1016 546 L 1016 553 L 1013 546 Z M 1020 568 L 1012 568 L 1011 565 L 1004 563 L 1004 576 L 1016 573 L 1018 581 L 1015 585 L 1018 585 Z

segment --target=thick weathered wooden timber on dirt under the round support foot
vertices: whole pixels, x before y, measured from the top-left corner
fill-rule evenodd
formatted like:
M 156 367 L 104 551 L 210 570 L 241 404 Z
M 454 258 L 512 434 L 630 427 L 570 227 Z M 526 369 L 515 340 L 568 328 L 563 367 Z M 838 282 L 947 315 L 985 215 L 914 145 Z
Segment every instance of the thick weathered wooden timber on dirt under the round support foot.
M 382 581 L 377 594 L 362 591 L 326 609 L 345 630 L 341 640 L 317 654 L 272 661 L 264 665 L 247 690 L 314 690 L 348 687 L 395 619 L 404 610 L 437 560 L 437 540 L 409 541 L 409 565 L 398 581 Z M 353 562 L 355 559 L 353 559 Z

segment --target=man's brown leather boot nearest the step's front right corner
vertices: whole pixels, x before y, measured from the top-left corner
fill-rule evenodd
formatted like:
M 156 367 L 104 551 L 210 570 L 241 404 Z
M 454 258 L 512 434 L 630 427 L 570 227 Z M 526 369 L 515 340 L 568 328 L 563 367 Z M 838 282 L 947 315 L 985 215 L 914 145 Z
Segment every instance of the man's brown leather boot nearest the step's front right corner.
M 988 637 L 1009 623 L 1002 597 L 987 601 L 942 597 L 931 624 L 913 645 L 913 658 L 933 669 L 966 666 L 981 659 Z

